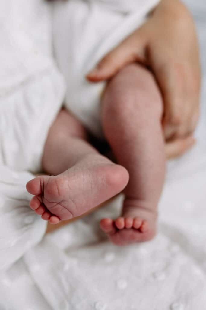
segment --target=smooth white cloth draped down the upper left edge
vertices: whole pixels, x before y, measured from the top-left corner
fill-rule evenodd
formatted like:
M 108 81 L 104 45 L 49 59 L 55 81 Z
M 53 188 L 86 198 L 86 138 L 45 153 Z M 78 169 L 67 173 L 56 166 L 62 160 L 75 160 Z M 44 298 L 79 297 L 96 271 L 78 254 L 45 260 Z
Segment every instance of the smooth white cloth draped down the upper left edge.
M 52 59 L 52 30 L 43 0 L 9 0 L 0 12 L 0 164 L 41 170 L 48 130 L 65 84 Z

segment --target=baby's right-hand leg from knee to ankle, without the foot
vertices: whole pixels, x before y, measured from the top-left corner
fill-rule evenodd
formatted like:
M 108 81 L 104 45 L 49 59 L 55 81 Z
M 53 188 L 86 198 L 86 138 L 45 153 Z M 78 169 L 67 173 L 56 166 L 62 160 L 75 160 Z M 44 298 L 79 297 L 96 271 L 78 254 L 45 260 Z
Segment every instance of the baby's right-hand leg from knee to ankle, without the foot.
M 129 172 L 126 199 L 157 205 L 165 174 L 163 103 L 152 73 L 130 64 L 108 83 L 102 126 L 119 164 Z

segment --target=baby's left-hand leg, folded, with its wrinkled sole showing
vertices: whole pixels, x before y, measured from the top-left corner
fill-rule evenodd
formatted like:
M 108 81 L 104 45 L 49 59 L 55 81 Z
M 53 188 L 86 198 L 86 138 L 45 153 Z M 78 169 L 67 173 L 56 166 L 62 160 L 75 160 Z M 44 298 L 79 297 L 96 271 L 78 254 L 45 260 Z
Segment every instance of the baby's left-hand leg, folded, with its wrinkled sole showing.
M 51 224 L 85 213 L 128 183 L 127 170 L 100 155 L 86 139 L 81 123 L 62 110 L 50 128 L 43 155 L 43 168 L 53 176 L 27 183 L 27 191 L 35 195 L 31 208 Z

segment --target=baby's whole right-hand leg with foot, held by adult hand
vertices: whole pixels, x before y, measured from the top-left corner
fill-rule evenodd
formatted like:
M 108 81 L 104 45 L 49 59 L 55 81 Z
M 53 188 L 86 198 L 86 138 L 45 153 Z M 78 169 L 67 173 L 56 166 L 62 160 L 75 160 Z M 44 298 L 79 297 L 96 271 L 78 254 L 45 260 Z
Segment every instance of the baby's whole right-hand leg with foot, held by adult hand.
M 165 175 L 162 98 L 153 74 L 138 64 L 122 69 L 107 85 L 102 123 L 117 162 L 129 172 L 122 216 L 101 227 L 119 245 L 154 237 Z

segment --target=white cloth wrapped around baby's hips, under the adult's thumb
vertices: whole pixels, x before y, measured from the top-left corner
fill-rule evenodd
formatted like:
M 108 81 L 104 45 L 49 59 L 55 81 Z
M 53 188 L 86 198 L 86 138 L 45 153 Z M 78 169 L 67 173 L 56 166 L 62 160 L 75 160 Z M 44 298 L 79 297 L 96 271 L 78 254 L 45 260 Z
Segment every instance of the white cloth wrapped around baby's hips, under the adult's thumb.
M 158 2 L 69 0 L 54 3 L 54 51 L 66 81 L 65 107 L 100 138 L 103 133 L 99 103 L 105 82 L 89 83 L 86 74 L 140 27 Z M 126 14 L 124 10 L 129 5 L 131 10 Z

